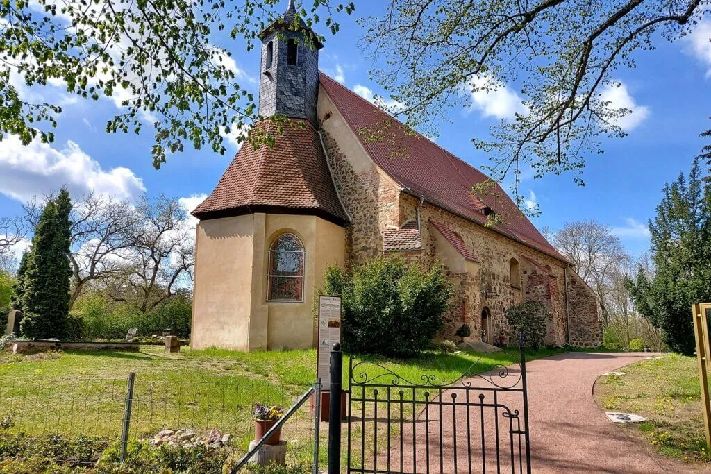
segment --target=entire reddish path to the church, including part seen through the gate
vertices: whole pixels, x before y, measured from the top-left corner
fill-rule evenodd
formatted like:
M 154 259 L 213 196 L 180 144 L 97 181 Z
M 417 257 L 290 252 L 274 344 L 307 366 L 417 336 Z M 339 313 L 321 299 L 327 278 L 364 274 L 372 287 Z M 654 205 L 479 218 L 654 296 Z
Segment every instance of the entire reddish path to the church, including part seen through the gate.
M 659 456 L 651 444 L 629 433 L 625 427 L 608 421 L 604 409 L 594 401 L 592 388 L 599 375 L 650 356 L 649 352 L 567 352 L 528 362 L 526 373 L 533 472 L 653 474 L 702 471 L 700 467 Z M 510 373 L 509 377 L 518 378 L 518 373 Z M 471 379 L 471 383 L 472 387 L 486 386 L 479 378 Z M 454 392 L 456 389 L 444 392 L 442 399 L 451 402 L 451 393 Z M 462 395 L 459 393 L 461 400 Z M 491 403 L 491 392 L 481 393 L 486 396 L 483 403 Z M 470 395 L 471 399 L 478 399 L 478 394 Z M 520 394 L 500 392 L 498 403 L 505 404 L 511 411 L 520 409 Z M 496 411 L 500 412 L 503 410 Z M 427 472 L 427 459 L 429 472 L 432 473 L 466 473 L 469 463 L 471 472 L 481 473 L 484 467 L 486 472 L 496 472 L 497 446 L 493 426 L 497 415 L 493 409 L 479 409 L 476 406 L 470 408 L 469 415 L 472 419 L 471 430 L 467 429 L 467 409 L 463 406 L 456 409 L 451 404 L 444 406 L 441 414 L 439 406 L 431 406 L 427 413 L 422 410 L 415 423 L 410 421 L 410 424 L 404 426 L 402 438 L 407 441 L 402 446 L 402 453 L 399 446 L 390 450 L 392 465 L 400 468 L 402 454 L 404 472 Z M 481 429 L 478 428 L 480 416 L 487 420 L 485 441 L 481 440 Z M 501 430 L 501 472 L 511 472 L 510 441 L 506 436 L 509 420 L 499 415 L 498 422 Z M 414 433 L 410 425 L 415 426 Z M 439 436 L 440 429 L 442 436 Z M 439 445 L 439 439 L 444 440 L 443 446 Z M 429 452 L 426 451 L 428 445 Z M 483 450 L 482 445 L 485 446 Z M 417 452 L 413 452 L 415 446 Z M 518 473 L 518 440 L 514 440 L 514 446 L 515 472 Z M 485 453 L 486 466 L 481 462 L 482 451 Z M 381 453 L 378 468 L 383 468 L 381 463 L 385 463 L 387 458 L 387 453 Z M 395 470 L 399 470 L 397 468 Z

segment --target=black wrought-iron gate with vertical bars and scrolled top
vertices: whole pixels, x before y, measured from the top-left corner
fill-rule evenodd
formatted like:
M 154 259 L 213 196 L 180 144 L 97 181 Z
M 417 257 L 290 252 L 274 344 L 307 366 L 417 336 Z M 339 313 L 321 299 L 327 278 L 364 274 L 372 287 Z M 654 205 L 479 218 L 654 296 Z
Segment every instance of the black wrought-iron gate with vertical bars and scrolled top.
M 447 383 L 351 357 L 348 473 L 530 473 L 523 347 L 519 357 L 483 373 L 480 357 Z

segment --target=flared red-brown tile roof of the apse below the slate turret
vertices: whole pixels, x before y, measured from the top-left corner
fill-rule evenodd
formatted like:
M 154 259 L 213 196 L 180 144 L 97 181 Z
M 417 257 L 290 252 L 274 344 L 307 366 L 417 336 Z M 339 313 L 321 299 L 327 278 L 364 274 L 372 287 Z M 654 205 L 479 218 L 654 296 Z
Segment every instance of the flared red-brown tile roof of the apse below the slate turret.
M 243 144 L 215 190 L 193 211 L 199 219 L 251 212 L 294 212 L 319 215 L 343 225 L 348 222 L 333 188 L 319 132 L 311 122 L 289 126 L 282 133 L 269 127 L 272 148 Z

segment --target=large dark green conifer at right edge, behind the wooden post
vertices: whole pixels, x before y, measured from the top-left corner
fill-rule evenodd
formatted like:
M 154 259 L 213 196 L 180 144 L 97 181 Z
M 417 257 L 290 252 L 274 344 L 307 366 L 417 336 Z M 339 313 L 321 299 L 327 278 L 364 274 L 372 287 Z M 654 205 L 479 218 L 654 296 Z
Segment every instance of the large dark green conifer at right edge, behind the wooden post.
M 711 184 L 695 158 L 688 177 L 664 186 L 657 216 L 649 223 L 654 274 L 640 269 L 628 281 L 639 313 L 662 331 L 668 347 L 695 350 L 691 306 L 711 300 Z

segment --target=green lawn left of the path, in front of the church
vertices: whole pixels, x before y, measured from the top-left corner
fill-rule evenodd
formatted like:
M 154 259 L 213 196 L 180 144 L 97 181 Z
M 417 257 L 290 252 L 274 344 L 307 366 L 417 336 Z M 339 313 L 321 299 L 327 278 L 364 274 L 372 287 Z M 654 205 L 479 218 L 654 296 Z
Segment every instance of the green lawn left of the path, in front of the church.
M 541 349 L 527 359 L 560 352 Z M 422 375 L 429 375 L 434 377 L 432 384 L 445 385 L 465 372 L 486 372 L 515 360 L 509 352 L 427 352 L 408 360 L 358 357 L 353 365 L 358 369 L 355 375 L 364 372 L 369 379 L 391 371 L 415 384 L 422 383 Z M 344 358 L 344 388 L 348 387 L 348 363 Z M 253 437 L 252 404 L 289 406 L 314 384 L 315 367 L 315 350 L 245 353 L 183 347 L 177 354 L 166 354 L 161 347 L 144 346 L 141 352 L 0 352 L 0 421 L 11 417 L 11 431 L 29 436 L 83 434 L 115 440 L 121 432 L 127 377 L 134 372 L 132 436 L 149 438 L 164 428 L 206 433 L 217 427 L 235 435 L 233 444 L 243 451 Z M 404 416 L 412 417 L 411 406 L 406 409 Z M 324 424 L 322 458 L 326 431 Z M 314 432 L 308 406 L 287 423 L 282 436 L 296 445 L 289 452 L 297 460 L 309 460 Z

